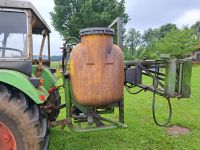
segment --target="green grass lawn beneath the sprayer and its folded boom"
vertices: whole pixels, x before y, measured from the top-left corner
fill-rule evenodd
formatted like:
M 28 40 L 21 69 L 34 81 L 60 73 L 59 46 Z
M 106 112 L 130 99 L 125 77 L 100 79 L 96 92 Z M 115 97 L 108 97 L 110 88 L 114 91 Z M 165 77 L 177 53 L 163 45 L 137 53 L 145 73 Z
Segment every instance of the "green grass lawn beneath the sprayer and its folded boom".
M 63 93 L 62 93 L 63 94 Z M 154 124 L 150 92 L 130 95 L 125 92 L 126 129 L 93 133 L 74 133 L 67 127 L 51 129 L 50 150 L 127 150 L 127 149 L 200 149 L 200 66 L 193 67 L 191 99 L 173 99 L 173 117 L 170 125 L 187 127 L 191 132 L 182 136 L 169 136 L 165 128 Z M 164 121 L 167 105 L 157 101 L 157 117 Z M 64 112 L 61 116 L 64 117 Z

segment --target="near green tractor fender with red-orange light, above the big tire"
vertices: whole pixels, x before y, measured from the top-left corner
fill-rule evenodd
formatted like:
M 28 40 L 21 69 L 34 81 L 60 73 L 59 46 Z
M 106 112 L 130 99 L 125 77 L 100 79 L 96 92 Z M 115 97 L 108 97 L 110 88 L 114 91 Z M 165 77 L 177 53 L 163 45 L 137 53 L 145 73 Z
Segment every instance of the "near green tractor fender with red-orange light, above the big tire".
M 22 91 L 36 104 L 43 104 L 49 96 L 43 86 L 35 88 L 29 81 L 28 76 L 14 70 L 1 69 L 0 82 L 11 85 Z

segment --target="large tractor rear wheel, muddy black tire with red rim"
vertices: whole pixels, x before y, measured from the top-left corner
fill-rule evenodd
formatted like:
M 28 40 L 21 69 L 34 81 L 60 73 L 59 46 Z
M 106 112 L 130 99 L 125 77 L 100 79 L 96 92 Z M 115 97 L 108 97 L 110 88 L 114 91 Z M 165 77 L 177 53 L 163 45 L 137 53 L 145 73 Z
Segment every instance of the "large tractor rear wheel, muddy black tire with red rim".
M 10 89 L 0 85 L 0 150 L 47 149 L 46 118 L 40 115 L 37 105 L 28 103 L 23 93 Z

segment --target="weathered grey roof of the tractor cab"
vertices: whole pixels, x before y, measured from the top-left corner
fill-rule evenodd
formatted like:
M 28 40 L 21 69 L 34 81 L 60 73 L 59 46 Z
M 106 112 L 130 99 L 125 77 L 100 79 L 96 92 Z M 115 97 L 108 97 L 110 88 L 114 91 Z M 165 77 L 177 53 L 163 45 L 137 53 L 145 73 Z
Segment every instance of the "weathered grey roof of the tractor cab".
M 37 9 L 33 6 L 31 2 L 21 1 L 21 0 L 0 0 L 0 8 L 14 8 L 14 9 L 30 9 L 38 17 L 43 25 L 43 28 L 47 28 L 49 32 L 51 29 L 46 21 L 42 18 Z

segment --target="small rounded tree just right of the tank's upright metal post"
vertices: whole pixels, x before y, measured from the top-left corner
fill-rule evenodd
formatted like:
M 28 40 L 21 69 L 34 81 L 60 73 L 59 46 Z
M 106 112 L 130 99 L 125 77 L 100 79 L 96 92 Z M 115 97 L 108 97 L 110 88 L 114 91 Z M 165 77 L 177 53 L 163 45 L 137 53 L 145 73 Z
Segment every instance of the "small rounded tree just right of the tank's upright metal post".
M 131 51 L 132 56 L 136 53 L 136 48 L 142 43 L 142 35 L 140 31 L 134 28 L 130 29 L 126 34 L 125 45 Z

